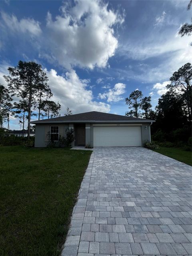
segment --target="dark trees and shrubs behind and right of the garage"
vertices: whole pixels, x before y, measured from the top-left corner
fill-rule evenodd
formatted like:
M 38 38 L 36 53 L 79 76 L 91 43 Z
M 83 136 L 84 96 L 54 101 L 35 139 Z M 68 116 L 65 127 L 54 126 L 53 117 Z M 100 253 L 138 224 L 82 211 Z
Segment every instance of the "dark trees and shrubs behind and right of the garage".
M 191 140 L 192 121 L 192 65 L 186 63 L 174 72 L 168 91 L 152 110 L 151 97 L 144 97 L 136 90 L 125 99 L 130 111 L 128 116 L 156 120 L 151 132 L 156 141 L 187 142 Z

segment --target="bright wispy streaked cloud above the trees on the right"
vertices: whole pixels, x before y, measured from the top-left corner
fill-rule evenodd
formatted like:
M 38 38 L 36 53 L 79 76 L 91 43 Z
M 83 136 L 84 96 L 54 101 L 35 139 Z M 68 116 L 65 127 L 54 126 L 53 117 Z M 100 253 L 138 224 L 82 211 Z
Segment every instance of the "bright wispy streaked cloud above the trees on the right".
M 131 46 L 130 46 L 131 47 Z M 131 48 L 130 48 L 131 49 Z M 137 51 L 135 51 L 137 49 Z M 163 82 L 167 81 L 172 74 L 177 71 L 181 66 L 187 62 L 191 62 L 191 46 L 190 37 L 174 37 L 169 42 L 158 45 L 154 43 L 154 46 L 148 47 L 145 43 L 143 45 L 136 45 L 136 49 L 131 49 L 129 58 L 147 59 L 150 57 L 158 57 L 158 55 L 164 54 L 166 58 L 163 58 L 160 63 L 155 61 L 152 64 L 145 66 L 138 66 L 137 72 L 133 70 L 116 69 L 118 78 L 124 77 L 124 79 L 135 79 L 143 82 Z M 156 50 L 154 50 L 156 49 Z M 138 54 L 138 55 L 137 55 Z M 135 57 L 134 57 L 135 56 Z M 163 55 L 162 55 L 163 56 Z

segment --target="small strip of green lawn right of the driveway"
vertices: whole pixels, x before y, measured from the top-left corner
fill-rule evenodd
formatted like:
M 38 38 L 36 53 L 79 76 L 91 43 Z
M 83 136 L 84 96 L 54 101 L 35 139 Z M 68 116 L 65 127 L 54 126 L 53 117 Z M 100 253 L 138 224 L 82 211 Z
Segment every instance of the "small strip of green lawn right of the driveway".
M 192 153 L 180 148 L 165 148 L 160 147 L 160 150 L 153 150 L 162 155 L 169 156 L 185 164 L 192 165 Z

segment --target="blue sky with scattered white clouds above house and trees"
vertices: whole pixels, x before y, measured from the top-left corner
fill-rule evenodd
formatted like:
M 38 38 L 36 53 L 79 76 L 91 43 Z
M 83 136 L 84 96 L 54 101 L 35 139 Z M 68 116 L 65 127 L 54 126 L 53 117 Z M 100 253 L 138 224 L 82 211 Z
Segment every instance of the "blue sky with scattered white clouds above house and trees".
M 188 1 L 1 1 L 0 83 L 18 60 L 42 65 L 52 100 L 72 112 L 124 115 L 138 89 L 153 107 L 172 73 L 191 61 Z M 12 118 L 11 129 L 18 120 Z

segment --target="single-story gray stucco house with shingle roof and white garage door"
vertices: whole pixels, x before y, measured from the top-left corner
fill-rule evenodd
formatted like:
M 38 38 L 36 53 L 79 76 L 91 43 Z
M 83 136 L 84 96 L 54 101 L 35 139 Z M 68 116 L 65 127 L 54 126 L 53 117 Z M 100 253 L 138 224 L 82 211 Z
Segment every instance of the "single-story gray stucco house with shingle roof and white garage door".
M 151 140 L 154 120 L 107 114 L 97 111 L 60 116 L 31 122 L 35 124 L 35 147 L 46 147 L 50 138 L 65 137 L 74 130 L 72 146 L 144 146 Z

